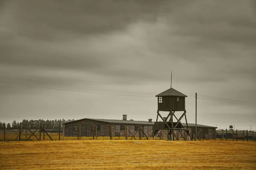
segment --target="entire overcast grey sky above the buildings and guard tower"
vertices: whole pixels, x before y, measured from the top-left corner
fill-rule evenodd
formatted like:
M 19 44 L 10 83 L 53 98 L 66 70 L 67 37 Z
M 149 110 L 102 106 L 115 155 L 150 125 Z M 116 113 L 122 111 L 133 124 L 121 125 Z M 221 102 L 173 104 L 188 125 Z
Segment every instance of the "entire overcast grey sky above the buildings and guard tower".
M 256 130 L 255 0 L 0 0 L 0 76 L 151 92 L 93 94 L 0 82 L 0 121 L 155 121 L 170 87 L 198 124 Z M 1 81 L 1 80 L 0 80 Z M 206 98 L 205 98 L 206 99 Z M 245 103 L 248 104 L 248 103 Z M 184 122 L 184 121 L 183 121 Z

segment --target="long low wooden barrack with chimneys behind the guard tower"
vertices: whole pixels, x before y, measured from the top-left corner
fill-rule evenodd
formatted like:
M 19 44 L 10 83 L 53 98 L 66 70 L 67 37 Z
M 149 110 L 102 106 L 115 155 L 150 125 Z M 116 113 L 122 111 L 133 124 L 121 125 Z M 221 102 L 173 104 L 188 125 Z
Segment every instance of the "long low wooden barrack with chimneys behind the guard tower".
M 125 126 L 127 126 L 128 130 L 132 133 L 128 133 L 127 136 L 132 136 L 136 132 L 137 129 L 140 127 L 144 131 L 145 135 L 148 137 L 154 136 L 154 126 L 155 122 L 152 122 L 152 119 L 148 119 L 148 121 L 136 121 L 136 120 L 127 120 L 127 115 L 123 115 L 123 119 L 116 120 L 116 119 L 79 119 L 72 122 L 64 123 L 64 136 L 77 136 L 78 132 L 78 125 L 81 127 L 81 136 L 93 136 L 93 125 L 97 126 L 97 136 L 110 136 L 110 126 L 112 126 L 112 135 L 113 136 L 121 136 L 124 134 Z M 191 131 L 195 129 L 195 124 L 182 123 L 185 128 L 189 128 Z M 215 128 L 212 126 L 205 126 L 205 125 L 197 125 L 198 129 L 198 138 L 203 139 L 214 139 Z M 164 130 L 161 131 L 160 135 L 163 136 L 165 133 Z M 179 133 L 175 131 L 175 136 L 184 136 L 185 133 Z M 139 136 L 139 133 L 136 133 L 135 136 Z M 142 134 L 144 136 L 144 134 Z

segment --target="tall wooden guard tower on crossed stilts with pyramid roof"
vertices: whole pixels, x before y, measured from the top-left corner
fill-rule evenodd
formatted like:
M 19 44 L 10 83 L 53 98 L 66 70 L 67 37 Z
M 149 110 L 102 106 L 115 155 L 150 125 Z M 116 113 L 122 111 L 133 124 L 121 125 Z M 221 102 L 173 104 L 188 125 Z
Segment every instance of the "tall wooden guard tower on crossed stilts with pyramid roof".
M 179 133 L 186 136 L 188 135 L 188 140 L 190 140 L 189 135 L 189 127 L 186 119 L 186 109 L 185 109 L 185 97 L 187 97 L 185 94 L 180 93 L 179 91 L 169 88 L 168 90 L 157 94 L 157 120 L 154 123 L 154 139 L 157 137 L 160 130 L 167 130 L 168 133 L 168 139 L 169 140 L 175 140 L 175 131 L 178 131 Z M 162 112 L 169 112 L 167 117 L 163 117 L 160 114 L 160 111 Z M 175 116 L 175 112 L 182 111 L 183 114 L 178 119 L 177 116 Z M 158 122 L 158 117 L 162 119 L 163 122 Z M 174 117 L 174 118 L 173 118 Z M 181 124 L 181 119 L 185 117 L 186 120 L 186 128 Z M 176 120 L 174 121 L 174 119 Z M 176 136 L 176 139 L 179 137 Z M 184 137 L 184 140 L 187 140 L 187 137 Z

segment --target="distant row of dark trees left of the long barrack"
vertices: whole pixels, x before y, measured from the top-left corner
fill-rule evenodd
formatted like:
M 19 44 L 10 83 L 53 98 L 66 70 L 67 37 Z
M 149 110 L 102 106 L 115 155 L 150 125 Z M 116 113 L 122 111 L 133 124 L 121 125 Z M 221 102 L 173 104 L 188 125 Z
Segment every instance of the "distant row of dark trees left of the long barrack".
M 28 119 L 23 119 L 22 122 L 16 122 L 16 120 L 14 120 L 12 123 L 7 123 L 6 126 L 6 130 L 17 130 L 20 128 L 21 129 L 25 129 L 26 126 L 29 127 L 29 129 L 37 129 L 40 127 L 40 123 L 45 129 L 53 129 L 53 130 L 57 130 L 59 128 L 59 125 L 61 124 L 61 128 L 63 123 L 66 122 L 71 122 L 74 121 L 75 119 L 71 120 L 71 119 L 55 119 L 55 120 L 44 120 L 44 119 L 38 119 L 38 120 L 28 120 Z M 0 122 L 0 129 L 3 129 L 3 125 L 4 122 Z

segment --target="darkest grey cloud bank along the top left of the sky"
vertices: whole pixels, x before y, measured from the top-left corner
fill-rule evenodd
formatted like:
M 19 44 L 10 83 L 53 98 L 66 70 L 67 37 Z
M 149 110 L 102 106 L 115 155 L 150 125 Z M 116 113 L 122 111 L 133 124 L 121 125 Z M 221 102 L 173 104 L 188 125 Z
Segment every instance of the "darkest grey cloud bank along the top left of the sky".
M 65 40 L 63 34 L 102 34 L 125 29 L 138 20 L 155 22 L 164 1 L 23 0 L 5 2 L 7 21 L 17 35 L 39 40 Z

